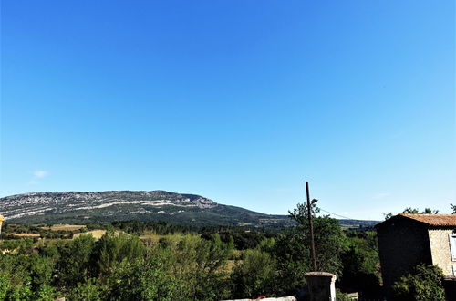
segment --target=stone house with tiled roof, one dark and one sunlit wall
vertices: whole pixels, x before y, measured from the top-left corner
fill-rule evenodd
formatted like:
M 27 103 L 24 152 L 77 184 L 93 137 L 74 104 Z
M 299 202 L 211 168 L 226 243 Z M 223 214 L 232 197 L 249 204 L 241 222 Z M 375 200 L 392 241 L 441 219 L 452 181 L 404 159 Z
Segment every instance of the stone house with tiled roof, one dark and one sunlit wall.
M 383 284 L 390 286 L 421 263 L 456 275 L 456 214 L 400 213 L 376 225 Z

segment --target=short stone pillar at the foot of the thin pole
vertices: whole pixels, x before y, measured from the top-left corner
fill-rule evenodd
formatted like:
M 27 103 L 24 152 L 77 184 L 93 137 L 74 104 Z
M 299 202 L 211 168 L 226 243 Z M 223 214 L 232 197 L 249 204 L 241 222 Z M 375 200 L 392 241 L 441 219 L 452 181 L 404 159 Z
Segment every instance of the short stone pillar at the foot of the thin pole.
M 336 301 L 336 278 L 326 272 L 306 273 L 310 301 Z

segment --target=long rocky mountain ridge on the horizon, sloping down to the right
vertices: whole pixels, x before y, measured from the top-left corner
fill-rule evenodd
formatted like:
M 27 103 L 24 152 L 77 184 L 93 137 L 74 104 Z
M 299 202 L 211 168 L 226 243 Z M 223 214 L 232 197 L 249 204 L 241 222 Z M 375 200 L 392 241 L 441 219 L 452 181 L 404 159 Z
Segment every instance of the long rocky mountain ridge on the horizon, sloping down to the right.
M 192 193 L 157 191 L 27 192 L 0 198 L 0 213 L 11 223 L 95 223 L 126 220 L 194 225 L 279 228 L 287 215 L 258 213 Z M 348 224 L 353 224 L 355 220 Z M 371 226 L 376 221 L 362 221 Z

